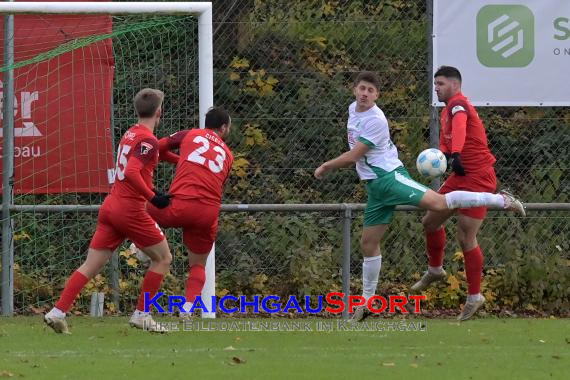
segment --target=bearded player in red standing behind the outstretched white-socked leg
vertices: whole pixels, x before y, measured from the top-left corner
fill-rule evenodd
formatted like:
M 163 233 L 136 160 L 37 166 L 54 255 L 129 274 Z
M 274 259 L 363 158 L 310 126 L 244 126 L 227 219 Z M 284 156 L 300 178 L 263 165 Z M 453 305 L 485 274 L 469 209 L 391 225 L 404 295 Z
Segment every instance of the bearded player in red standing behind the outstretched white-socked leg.
M 453 173 L 439 189 L 440 194 L 455 190 L 493 192 L 497 188 L 495 157 L 487 145 L 483 122 L 477 110 L 461 93 L 461 73 L 455 67 L 441 66 L 434 74 L 437 98 L 446 105 L 440 116 L 439 149 L 446 155 Z M 431 283 L 447 278 L 443 270 L 445 222 L 457 212 L 457 239 L 463 251 L 468 296 L 458 319 L 467 320 L 483 305 L 481 291 L 483 252 L 477 233 L 487 215 L 487 207 L 458 210 L 429 210 L 422 223 L 426 236 L 428 270 L 412 286 L 421 291 Z M 524 214 L 523 214 L 524 215 Z

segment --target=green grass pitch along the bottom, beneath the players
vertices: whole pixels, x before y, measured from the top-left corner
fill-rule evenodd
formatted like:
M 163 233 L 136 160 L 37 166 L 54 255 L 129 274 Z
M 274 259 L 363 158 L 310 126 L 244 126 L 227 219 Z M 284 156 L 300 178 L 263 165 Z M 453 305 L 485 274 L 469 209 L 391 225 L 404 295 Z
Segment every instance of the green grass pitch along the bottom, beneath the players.
M 0 378 L 570 378 L 568 319 L 424 320 L 425 331 L 407 332 L 169 334 L 132 329 L 124 317 L 69 320 L 72 335 L 57 335 L 41 317 L 0 318 Z

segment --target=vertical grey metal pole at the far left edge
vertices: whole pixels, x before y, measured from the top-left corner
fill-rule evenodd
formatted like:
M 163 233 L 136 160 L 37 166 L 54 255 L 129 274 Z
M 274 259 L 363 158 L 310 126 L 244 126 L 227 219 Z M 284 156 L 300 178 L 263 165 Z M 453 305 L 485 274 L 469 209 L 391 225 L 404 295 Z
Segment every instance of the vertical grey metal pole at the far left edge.
M 4 67 L 14 64 L 14 15 L 4 16 Z M 14 313 L 14 241 L 12 187 L 14 184 L 14 70 L 4 72 L 2 146 L 2 315 Z

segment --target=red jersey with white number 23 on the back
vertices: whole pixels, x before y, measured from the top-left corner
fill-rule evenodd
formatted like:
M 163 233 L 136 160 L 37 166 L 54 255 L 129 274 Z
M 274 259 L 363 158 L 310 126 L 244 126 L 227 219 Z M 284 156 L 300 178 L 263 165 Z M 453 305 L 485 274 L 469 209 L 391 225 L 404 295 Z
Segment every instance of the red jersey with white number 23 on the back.
M 206 204 L 222 203 L 224 183 L 234 156 L 211 129 L 191 129 L 160 139 L 161 154 L 179 149 L 180 159 L 169 193 L 180 199 L 199 199 Z

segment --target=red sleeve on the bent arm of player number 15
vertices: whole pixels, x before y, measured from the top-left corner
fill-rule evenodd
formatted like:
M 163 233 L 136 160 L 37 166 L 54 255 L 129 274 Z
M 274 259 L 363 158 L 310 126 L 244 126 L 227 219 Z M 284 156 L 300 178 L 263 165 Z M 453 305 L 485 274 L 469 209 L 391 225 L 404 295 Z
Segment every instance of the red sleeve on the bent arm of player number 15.
M 147 138 L 140 141 L 135 145 L 133 154 L 129 158 L 129 163 L 125 169 L 125 181 L 147 200 L 154 197 L 154 191 L 146 185 L 141 172 L 149 162 L 155 159 L 158 153 L 157 145 L 156 139 Z

